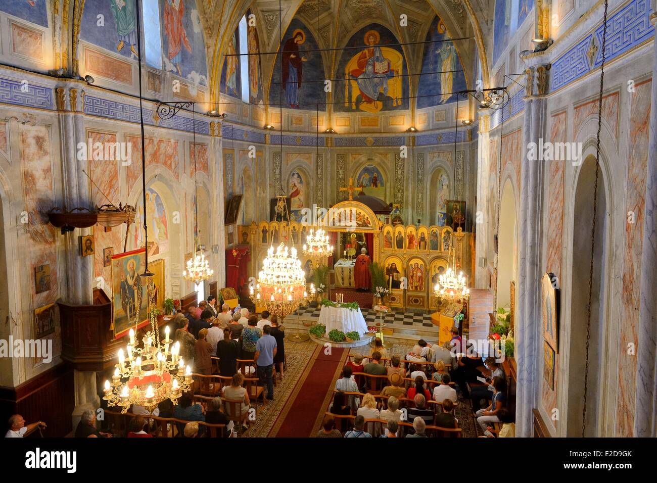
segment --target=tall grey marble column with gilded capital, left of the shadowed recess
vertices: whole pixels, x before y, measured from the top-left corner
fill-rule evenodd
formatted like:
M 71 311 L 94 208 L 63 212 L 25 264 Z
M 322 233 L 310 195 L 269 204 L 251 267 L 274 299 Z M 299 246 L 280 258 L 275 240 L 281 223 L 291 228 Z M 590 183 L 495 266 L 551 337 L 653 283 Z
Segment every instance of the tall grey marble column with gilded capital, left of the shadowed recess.
M 539 66 L 540 68 L 541 66 Z M 537 69 L 539 70 L 539 69 Z M 545 70 L 543 70 L 545 73 Z M 518 262 L 518 314 L 516 320 L 516 363 L 518 388 L 516 392 L 516 436 L 533 434 L 532 409 L 537 405 L 538 376 L 536 373 L 539 336 L 541 331 L 541 254 L 543 253 L 543 185 L 542 162 L 530 162 L 529 143 L 545 139 L 547 87 L 540 79 L 533 86 L 533 72 L 527 80 L 532 85 L 525 98 L 523 149 L 520 187 L 520 260 Z

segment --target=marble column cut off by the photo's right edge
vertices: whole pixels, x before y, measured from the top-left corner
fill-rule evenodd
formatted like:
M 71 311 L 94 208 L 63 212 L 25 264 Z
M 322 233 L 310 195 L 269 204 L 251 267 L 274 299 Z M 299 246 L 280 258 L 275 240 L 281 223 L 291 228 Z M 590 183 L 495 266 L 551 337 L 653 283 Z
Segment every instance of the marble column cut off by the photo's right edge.
M 657 13 L 650 16 L 650 21 L 653 25 L 657 24 Z M 653 48 L 634 417 L 634 436 L 641 438 L 657 436 L 657 41 L 653 43 Z

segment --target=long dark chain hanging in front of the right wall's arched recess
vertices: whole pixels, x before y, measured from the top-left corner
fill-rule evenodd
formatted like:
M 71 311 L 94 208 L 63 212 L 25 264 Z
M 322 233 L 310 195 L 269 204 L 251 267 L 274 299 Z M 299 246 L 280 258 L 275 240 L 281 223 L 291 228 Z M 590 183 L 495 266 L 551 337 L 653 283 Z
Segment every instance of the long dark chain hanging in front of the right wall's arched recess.
M 602 93 L 604 92 L 604 60 L 607 39 L 607 2 L 604 0 L 604 20 L 602 27 L 602 64 L 600 64 L 600 93 L 598 96 L 598 132 L 595 143 L 595 185 L 593 185 L 593 229 L 591 231 L 591 265 L 589 265 L 589 303 L 586 317 L 586 365 L 584 369 L 584 402 L 582 408 L 581 437 L 586 431 L 586 403 L 589 386 L 589 344 L 591 342 L 591 304 L 593 302 L 593 262 L 595 260 L 595 229 L 598 214 L 598 178 L 600 175 L 600 130 L 602 129 Z

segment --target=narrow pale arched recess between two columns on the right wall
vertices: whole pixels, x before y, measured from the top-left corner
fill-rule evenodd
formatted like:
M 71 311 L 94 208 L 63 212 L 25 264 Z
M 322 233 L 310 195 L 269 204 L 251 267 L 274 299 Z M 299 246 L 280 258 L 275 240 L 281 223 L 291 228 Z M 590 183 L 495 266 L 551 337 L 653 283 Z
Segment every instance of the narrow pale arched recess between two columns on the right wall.
M 497 237 L 497 307 L 510 308 L 510 283 L 518 279 L 518 216 L 510 179 L 504 183 L 499 204 Z M 497 308 L 495 307 L 495 308 Z

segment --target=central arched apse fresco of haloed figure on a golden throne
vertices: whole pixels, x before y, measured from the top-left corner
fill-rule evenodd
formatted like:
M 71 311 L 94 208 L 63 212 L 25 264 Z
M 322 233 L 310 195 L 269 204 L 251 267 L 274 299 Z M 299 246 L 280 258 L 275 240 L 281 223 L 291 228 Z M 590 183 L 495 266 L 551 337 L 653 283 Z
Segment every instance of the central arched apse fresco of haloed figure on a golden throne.
M 370 24 L 352 35 L 338 63 L 334 97 L 337 112 L 370 112 L 409 108 L 406 61 L 396 37 Z M 391 47 L 386 47 L 391 45 Z

